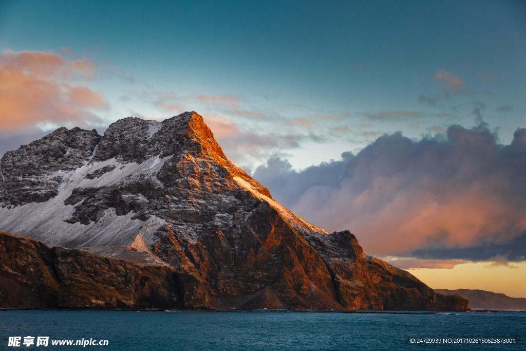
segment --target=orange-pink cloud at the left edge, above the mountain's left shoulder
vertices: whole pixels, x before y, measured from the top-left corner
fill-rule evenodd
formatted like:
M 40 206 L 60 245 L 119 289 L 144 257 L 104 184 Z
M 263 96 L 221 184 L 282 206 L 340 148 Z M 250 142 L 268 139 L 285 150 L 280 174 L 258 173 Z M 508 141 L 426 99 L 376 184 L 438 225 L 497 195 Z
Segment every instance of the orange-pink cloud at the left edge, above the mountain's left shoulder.
M 93 78 L 87 57 L 68 61 L 53 52 L 0 54 L 0 128 L 17 130 L 37 124 L 97 122 L 94 109 L 107 104 L 99 93 L 76 81 Z

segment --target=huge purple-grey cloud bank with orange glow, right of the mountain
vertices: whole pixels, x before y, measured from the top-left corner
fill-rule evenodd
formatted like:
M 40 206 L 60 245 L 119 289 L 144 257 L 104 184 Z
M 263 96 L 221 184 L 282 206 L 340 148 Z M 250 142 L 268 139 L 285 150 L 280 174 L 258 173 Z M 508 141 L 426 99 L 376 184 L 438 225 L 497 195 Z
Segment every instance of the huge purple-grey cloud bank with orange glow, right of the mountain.
M 370 254 L 488 260 L 526 252 L 523 128 L 505 146 L 485 125 L 420 141 L 384 135 L 356 156 L 300 172 L 272 157 L 254 177 L 310 222 L 351 230 Z

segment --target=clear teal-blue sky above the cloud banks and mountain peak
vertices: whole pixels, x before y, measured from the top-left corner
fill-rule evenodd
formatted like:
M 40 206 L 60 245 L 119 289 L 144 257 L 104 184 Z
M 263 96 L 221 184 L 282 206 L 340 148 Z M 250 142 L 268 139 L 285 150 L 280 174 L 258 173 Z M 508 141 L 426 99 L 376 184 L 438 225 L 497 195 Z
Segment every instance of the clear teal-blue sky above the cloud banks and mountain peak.
M 274 138 L 244 159 L 224 142 L 247 167 L 277 153 L 304 168 L 383 133 L 471 127 L 477 113 L 503 143 L 525 124 L 520 1 L 4 1 L 0 47 L 92 59 L 95 77 L 77 84 L 105 98 L 102 131 L 184 108 Z M 197 95 L 234 97 L 235 111 Z

